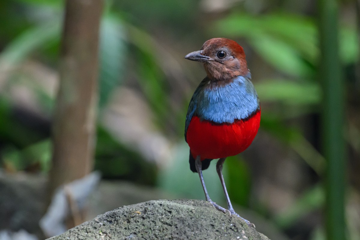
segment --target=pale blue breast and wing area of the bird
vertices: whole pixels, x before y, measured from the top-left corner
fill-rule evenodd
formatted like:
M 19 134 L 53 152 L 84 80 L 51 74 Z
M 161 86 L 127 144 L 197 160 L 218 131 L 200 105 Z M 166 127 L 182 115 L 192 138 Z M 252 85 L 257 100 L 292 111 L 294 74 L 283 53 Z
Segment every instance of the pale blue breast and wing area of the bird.
M 185 123 L 186 131 L 194 115 L 215 123 L 233 123 L 246 119 L 260 109 L 255 88 L 247 77 L 238 76 L 227 84 L 211 83 L 205 78 L 190 101 Z

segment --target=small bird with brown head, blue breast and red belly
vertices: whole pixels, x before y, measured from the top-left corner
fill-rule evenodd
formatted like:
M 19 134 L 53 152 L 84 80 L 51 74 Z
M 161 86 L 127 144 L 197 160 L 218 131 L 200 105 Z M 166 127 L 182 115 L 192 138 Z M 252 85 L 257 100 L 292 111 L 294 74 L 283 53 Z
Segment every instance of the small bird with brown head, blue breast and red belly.
M 203 63 L 207 76 L 196 88 L 185 120 L 185 141 L 190 147 L 190 170 L 199 174 L 206 201 L 224 213 L 234 211 L 226 190 L 222 167 L 226 157 L 243 152 L 260 127 L 260 101 L 251 81 L 243 47 L 227 38 L 211 38 L 185 59 Z M 213 202 L 202 170 L 213 159 L 228 209 Z M 242 218 L 242 217 L 240 217 Z M 255 225 L 242 218 L 249 226 Z

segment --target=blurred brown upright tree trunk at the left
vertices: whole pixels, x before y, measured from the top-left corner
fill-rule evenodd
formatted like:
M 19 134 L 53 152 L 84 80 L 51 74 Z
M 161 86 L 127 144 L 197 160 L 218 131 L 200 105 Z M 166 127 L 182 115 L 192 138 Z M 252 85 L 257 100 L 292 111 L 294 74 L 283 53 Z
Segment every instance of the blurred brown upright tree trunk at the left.
M 52 137 L 50 194 L 93 169 L 102 0 L 67 0 Z

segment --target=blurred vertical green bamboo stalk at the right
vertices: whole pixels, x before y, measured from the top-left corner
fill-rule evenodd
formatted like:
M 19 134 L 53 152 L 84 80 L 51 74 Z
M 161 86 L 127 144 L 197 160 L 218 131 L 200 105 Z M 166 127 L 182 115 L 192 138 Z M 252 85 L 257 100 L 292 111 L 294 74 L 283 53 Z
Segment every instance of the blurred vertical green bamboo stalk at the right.
M 323 87 L 322 140 L 327 160 L 325 228 L 328 240 L 345 237 L 345 87 L 339 60 L 338 1 L 318 0 L 320 79 Z

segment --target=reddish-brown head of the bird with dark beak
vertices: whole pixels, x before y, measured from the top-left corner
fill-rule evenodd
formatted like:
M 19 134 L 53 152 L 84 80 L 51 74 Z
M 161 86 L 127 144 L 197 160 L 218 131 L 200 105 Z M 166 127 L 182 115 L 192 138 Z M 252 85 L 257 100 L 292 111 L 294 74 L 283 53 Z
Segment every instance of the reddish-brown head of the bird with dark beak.
M 215 81 L 230 80 L 249 73 L 244 49 L 227 38 L 211 38 L 201 50 L 190 52 L 185 59 L 203 62 L 208 78 Z

